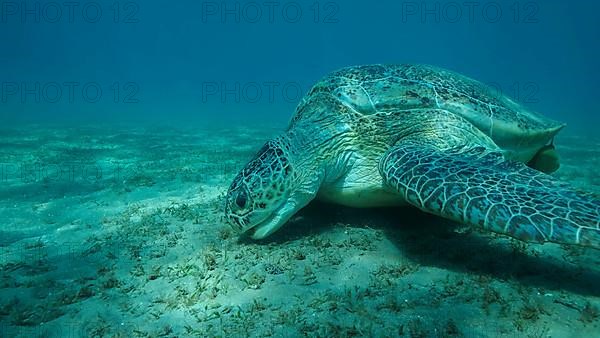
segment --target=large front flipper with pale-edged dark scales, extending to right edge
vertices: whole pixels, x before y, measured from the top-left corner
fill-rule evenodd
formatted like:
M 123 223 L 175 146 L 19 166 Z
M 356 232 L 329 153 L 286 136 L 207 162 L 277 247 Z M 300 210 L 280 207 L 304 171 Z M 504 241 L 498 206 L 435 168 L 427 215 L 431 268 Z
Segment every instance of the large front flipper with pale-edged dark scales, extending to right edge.
M 600 201 L 483 147 L 405 141 L 380 172 L 423 211 L 524 241 L 600 248 Z

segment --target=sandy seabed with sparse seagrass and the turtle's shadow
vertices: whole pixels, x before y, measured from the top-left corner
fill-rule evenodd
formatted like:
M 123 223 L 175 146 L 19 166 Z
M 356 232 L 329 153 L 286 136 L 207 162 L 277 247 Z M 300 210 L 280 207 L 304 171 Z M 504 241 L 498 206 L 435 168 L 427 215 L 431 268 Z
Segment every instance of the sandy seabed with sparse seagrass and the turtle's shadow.
M 600 251 L 411 208 L 313 203 L 264 241 L 223 222 L 273 127 L 0 133 L 0 337 L 593 337 Z M 600 137 L 555 174 L 600 195 Z

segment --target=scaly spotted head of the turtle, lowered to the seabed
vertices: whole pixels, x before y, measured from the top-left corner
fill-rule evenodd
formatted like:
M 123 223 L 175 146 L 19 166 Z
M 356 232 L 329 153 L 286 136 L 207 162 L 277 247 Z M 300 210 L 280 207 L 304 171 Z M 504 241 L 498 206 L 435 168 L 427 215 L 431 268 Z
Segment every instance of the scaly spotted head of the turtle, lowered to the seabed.
M 227 221 L 238 231 L 252 230 L 254 239 L 272 234 L 308 203 L 299 193 L 288 145 L 285 138 L 267 142 L 227 192 Z

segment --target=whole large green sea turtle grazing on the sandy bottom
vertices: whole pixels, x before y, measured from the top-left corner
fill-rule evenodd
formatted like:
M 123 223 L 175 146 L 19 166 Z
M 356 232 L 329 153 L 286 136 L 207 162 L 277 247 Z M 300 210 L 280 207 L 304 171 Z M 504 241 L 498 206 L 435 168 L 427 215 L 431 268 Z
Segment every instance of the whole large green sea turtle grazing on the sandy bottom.
M 563 127 L 449 70 L 343 68 L 235 177 L 226 219 L 261 239 L 315 198 L 408 204 L 523 241 L 600 248 L 600 201 L 540 171 L 558 168 Z

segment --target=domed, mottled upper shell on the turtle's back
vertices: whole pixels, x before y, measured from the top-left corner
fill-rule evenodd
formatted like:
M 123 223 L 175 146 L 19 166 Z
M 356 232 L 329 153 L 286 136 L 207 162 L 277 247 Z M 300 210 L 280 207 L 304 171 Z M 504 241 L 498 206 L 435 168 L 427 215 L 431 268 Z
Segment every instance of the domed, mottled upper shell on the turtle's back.
M 321 94 L 329 95 L 363 115 L 416 108 L 441 108 L 456 114 L 468 112 L 480 121 L 478 126 L 488 135 L 493 134 L 492 128 L 498 122 L 514 126 L 522 133 L 546 131 L 559 125 L 527 111 L 495 88 L 427 65 L 343 68 L 317 83 L 307 97 L 323 97 Z M 306 116 L 300 108 L 308 102 L 305 100 L 300 104 L 294 121 Z M 336 110 L 331 112 L 338 113 Z

